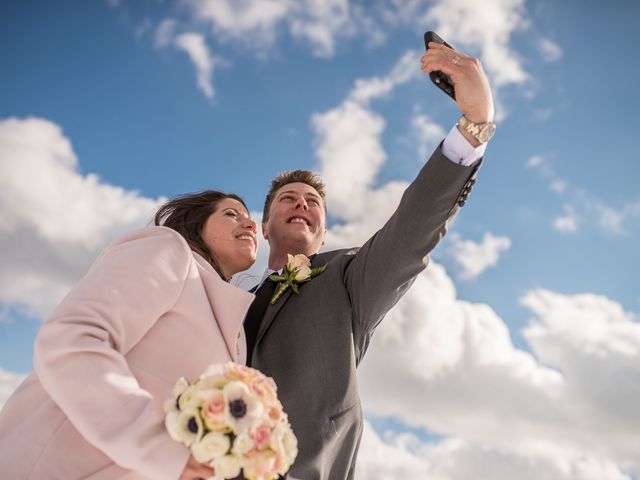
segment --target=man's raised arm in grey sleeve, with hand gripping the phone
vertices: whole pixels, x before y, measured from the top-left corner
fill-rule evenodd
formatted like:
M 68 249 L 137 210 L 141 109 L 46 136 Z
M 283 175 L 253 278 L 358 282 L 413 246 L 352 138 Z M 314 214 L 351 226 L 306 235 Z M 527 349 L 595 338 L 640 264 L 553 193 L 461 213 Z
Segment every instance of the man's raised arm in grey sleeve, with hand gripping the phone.
M 452 78 L 458 107 L 468 120 L 478 124 L 493 121 L 493 97 L 478 59 L 432 43 L 421 58 L 421 67 L 425 73 L 441 70 Z M 469 147 L 483 151 L 475 136 L 460 126 L 458 130 Z M 449 134 L 444 147 L 450 146 L 454 136 Z M 443 144 L 436 149 L 389 221 L 347 267 L 345 282 L 355 322 L 365 333 L 375 328 L 426 267 L 427 255 L 444 237 L 448 222 L 464 205 L 475 183 L 481 161 L 460 165 L 445 156 L 444 150 L 452 149 L 443 148 Z

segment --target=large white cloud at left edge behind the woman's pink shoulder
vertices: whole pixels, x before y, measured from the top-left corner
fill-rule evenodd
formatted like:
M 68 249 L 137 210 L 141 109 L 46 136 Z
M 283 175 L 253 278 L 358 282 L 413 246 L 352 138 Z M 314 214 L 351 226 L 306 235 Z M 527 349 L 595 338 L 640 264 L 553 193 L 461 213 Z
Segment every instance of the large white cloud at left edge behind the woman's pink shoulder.
M 0 303 L 44 317 L 117 235 L 149 222 L 158 200 L 78 171 L 60 127 L 0 121 Z

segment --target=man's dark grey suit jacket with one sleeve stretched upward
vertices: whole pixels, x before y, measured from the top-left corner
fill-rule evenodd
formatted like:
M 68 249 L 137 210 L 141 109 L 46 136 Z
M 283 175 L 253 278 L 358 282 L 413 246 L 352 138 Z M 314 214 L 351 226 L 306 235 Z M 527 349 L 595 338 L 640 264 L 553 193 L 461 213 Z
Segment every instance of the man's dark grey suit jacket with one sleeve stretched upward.
M 265 312 L 252 365 L 273 377 L 298 437 L 289 480 L 352 479 L 362 435 L 356 368 L 374 329 L 427 264 L 475 183 L 438 148 L 397 210 L 359 249 L 325 252 L 327 269 Z

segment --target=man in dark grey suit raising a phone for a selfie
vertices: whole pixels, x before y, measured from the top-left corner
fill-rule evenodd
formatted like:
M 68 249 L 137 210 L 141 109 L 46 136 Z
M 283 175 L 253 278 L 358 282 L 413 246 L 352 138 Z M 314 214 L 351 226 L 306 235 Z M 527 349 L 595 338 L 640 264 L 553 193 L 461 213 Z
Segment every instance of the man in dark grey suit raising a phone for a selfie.
M 298 437 L 290 480 L 354 477 L 362 435 L 356 368 L 375 327 L 426 267 L 427 255 L 465 203 L 495 130 L 480 62 L 445 46 L 431 47 L 421 58 L 422 70 L 452 78 L 463 117 L 391 218 L 362 247 L 318 253 L 326 209 L 324 185 L 315 174 L 286 172 L 267 195 L 267 273 L 281 271 L 287 254 L 309 256 L 313 267 L 326 264 L 299 294 L 289 288 L 275 304 L 269 303 L 274 287 L 263 282 L 245 320 L 248 363 L 275 379 Z

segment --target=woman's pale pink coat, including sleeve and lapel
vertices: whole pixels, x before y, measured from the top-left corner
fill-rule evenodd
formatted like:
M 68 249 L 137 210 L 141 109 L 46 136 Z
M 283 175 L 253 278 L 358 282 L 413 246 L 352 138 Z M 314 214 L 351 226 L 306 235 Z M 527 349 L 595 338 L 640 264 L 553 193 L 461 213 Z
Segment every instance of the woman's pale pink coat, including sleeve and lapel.
M 253 295 L 166 227 L 112 243 L 43 324 L 32 373 L 0 413 L 1 479 L 179 478 L 165 431 L 178 377 L 244 363 Z

